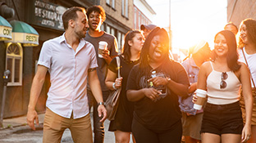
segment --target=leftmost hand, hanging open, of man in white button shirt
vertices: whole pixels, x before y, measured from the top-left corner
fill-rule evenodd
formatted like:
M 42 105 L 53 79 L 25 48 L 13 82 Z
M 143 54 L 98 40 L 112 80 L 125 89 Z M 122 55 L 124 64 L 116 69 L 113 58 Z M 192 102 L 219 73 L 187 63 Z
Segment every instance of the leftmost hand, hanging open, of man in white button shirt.
M 35 109 L 28 109 L 28 113 L 27 113 L 27 123 L 28 125 L 32 128 L 32 130 L 35 130 L 34 127 L 34 121 L 36 123 L 36 125 L 39 125 L 39 116 L 36 113 Z

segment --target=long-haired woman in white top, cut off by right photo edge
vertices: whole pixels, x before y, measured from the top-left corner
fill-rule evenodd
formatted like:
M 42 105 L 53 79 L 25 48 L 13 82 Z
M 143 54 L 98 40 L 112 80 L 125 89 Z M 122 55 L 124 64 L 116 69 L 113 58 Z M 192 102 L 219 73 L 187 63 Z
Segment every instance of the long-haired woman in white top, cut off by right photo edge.
M 244 62 L 249 67 L 249 71 L 251 74 L 251 86 L 252 86 L 252 94 L 254 97 L 254 105 L 253 105 L 253 115 L 251 118 L 252 122 L 252 136 L 247 141 L 247 143 L 255 143 L 256 142 L 256 20 L 246 19 L 243 20 L 240 24 L 239 29 L 239 38 L 238 38 L 238 51 L 241 62 Z M 245 60 L 246 59 L 246 60 Z M 243 98 L 240 99 L 240 105 L 242 109 L 242 114 L 245 123 L 245 100 Z

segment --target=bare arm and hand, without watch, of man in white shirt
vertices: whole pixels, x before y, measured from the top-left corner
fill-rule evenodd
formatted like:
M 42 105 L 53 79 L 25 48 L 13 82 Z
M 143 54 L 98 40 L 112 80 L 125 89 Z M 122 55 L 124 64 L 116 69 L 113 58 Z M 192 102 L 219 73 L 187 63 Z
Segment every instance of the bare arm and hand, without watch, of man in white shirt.
M 34 121 L 36 124 L 39 124 L 39 117 L 37 112 L 35 111 L 35 105 L 38 101 L 40 92 L 42 90 L 47 71 L 48 71 L 48 68 L 46 68 L 43 65 L 38 65 L 37 72 L 34 75 L 32 87 L 30 90 L 30 103 L 28 106 L 26 119 L 27 119 L 27 123 L 33 130 L 35 130 Z

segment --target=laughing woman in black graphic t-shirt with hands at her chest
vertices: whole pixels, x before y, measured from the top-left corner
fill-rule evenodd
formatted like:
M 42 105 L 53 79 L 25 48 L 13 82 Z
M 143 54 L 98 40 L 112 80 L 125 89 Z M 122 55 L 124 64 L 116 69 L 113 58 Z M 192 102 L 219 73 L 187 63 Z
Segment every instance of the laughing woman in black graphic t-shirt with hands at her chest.
M 135 102 L 131 131 L 137 143 L 181 143 L 178 95 L 187 96 L 189 85 L 183 66 L 169 59 L 167 31 L 156 27 L 146 38 L 126 87 L 128 100 Z

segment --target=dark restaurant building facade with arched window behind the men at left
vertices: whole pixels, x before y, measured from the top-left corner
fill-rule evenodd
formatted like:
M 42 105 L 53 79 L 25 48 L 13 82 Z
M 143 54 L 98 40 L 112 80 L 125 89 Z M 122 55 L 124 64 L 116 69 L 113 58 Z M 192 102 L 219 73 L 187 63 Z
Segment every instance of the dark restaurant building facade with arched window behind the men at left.
M 46 40 L 63 34 L 62 14 L 68 7 L 88 8 L 92 5 L 101 5 L 107 16 L 102 29 L 117 37 L 120 49 L 124 35 L 128 30 L 133 29 L 133 2 L 129 0 L 2 0 L 2 2 L 15 12 L 14 16 L 6 16 L 0 12 L 0 16 L 6 17 L 5 19 L 12 26 L 11 40 L 2 41 L 0 33 L 0 74 L 3 74 L 6 69 L 11 71 L 11 80 L 7 83 L 6 94 L 2 90 L 3 78 L 0 78 L 0 99 L 6 95 L 4 118 L 26 114 L 30 100 L 30 87 L 41 47 Z M 19 28 L 13 26 L 16 25 L 15 22 L 29 26 L 34 33 L 16 36 L 15 31 Z M 14 41 L 21 37 L 26 37 L 25 39 L 29 42 L 18 39 Z M 48 87 L 50 87 L 49 74 L 36 105 L 39 113 L 45 111 Z

